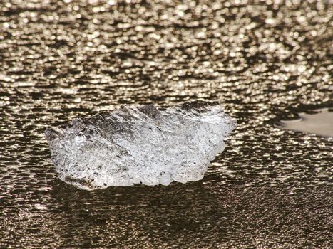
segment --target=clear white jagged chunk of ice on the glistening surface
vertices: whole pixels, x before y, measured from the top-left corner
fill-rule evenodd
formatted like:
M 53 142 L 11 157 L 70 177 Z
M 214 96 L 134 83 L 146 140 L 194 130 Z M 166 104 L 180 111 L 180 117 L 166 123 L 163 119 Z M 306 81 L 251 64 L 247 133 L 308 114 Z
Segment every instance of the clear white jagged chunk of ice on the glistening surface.
M 236 121 L 217 103 L 123 106 L 46 129 L 61 180 L 81 189 L 203 178 Z

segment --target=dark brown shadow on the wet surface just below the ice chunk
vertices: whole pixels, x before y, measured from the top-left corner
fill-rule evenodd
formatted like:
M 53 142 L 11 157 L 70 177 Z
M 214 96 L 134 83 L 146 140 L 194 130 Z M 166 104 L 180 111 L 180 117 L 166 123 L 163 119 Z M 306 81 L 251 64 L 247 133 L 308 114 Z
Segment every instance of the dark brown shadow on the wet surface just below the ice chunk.
M 79 190 L 56 180 L 51 196 L 56 201 L 52 211 L 63 221 L 62 233 L 72 233 L 75 229 L 81 238 L 87 238 L 88 246 L 98 246 L 88 238 L 103 226 L 108 231 L 103 235 L 116 236 L 111 245 L 120 246 L 121 241 L 128 244 L 137 235 L 173 239 L 182 231 L 186 237 L 194 233 L 207 236 L 211 229 L 216 229 L 211 226 L 214 223 L 219 223 L 222 231 L 228 227 L 228 206 L 235 198 L 232 190 L 227 192 L 220 196 L 220 192 L 210 189 L 203 180 L 169 186 L 109 187 L 96 191 Z M 121 231 L 131 231 L 132 234 L 124 235 Z M 96 240 L 101 240 L 101 235 L 95 236 Z M 71 243 L 68 240 L 63 245 Z

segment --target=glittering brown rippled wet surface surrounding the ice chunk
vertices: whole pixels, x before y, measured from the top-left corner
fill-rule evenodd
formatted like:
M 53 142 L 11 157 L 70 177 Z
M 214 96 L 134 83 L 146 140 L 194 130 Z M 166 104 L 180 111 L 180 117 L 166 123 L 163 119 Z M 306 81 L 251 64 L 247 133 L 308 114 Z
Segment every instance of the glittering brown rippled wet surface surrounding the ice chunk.
M 324 2 L 2 0 L 0 247 L 331 248 L 333 140 L 273 125 L 332 100 Z M 46 127 L 198 98 L 239 123 L 202 181 L 57 179 Z

